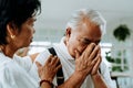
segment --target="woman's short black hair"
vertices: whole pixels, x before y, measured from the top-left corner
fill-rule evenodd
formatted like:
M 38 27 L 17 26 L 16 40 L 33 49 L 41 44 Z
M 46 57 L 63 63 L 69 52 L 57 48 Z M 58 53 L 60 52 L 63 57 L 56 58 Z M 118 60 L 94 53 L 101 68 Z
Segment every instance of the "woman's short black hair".
M 0 0 L 0 45 L 7 43 L 7 24 L 13 22 L 21 28 L 29 18 L 41 12 L 39 0 Z M 20 29 L 18 29 L 20 31 Z

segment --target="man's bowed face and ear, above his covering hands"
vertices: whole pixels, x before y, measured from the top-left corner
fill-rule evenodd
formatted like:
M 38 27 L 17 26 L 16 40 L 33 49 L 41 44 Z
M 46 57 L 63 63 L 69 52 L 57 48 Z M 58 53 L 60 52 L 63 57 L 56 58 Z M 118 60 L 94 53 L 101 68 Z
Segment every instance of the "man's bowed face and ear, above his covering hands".
M 65 34 L 65 44 L 72 57 L 75 57 L 75 50 L 82 54 L 90 43 L 99 44 L 102 35 L 100 26 L 93 23 L 84 23 L 75 30 L 69 28 Z

